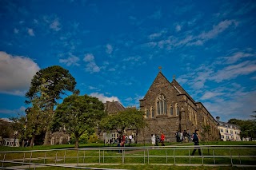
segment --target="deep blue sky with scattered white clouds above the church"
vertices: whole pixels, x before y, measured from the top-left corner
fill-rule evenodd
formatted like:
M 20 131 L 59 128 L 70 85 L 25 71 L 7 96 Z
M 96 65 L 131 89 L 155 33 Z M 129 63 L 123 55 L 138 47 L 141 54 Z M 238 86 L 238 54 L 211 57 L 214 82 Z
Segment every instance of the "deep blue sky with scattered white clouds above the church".
M 158 74 L 214 117 L 256 109 L 255 1 L 0 1 L 0 117 L 24 114 L 39 69 L 70 70 L 81 94 L 136 105 Z M 61 101 L 60 101 L 61 102 Z

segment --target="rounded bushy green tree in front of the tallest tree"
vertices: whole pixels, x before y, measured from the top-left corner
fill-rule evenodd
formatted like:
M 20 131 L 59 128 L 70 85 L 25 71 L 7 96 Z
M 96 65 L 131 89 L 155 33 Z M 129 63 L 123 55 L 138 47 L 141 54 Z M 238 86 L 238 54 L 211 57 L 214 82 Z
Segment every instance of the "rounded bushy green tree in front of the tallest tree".
M 98 122 L 105 116 L 104 105 L 98 98 L 73 94 L 58 105 L 52 127 L 54 129 L 65 127 L 67 132 L 73 133 L 75 148 L 78 148 L 79 137 L 84 132 L 96 128 Z

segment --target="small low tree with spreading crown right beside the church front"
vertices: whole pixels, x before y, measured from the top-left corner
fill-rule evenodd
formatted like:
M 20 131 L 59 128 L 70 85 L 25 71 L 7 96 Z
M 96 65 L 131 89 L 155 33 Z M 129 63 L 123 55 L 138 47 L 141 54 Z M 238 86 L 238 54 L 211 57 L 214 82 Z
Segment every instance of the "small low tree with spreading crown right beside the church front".
M 143 128 L 146 122 L 143 118 L 144 113 L 137 109 L 126 109 L 125 111 L 117 114 L 111 114 L 102 119 L 100 127 L 103 131 L 110 132 L 116 131 L 119 134 L 127 129 L 136 130 L 136 143 L 138 136 L 138 129 Z

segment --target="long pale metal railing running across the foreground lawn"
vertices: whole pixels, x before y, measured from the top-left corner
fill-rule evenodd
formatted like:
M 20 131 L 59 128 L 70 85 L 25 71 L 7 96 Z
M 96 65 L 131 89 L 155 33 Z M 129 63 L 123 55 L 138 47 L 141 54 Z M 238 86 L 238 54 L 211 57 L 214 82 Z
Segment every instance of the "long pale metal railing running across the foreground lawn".
M 92 164 L 168 164 L 178 166 L 256 167 L 256 145 L 200 145 L 202 156 L 192 156 L 194 146 L 66 148 L 0 152 L 0 167 L 31 165 L 88 168 Z M 35 166 L 36 165 L 36 166 Z M 98 169 L 98 168 L 90 168 Z M 101 168 L 102 169 L 102 168 Z

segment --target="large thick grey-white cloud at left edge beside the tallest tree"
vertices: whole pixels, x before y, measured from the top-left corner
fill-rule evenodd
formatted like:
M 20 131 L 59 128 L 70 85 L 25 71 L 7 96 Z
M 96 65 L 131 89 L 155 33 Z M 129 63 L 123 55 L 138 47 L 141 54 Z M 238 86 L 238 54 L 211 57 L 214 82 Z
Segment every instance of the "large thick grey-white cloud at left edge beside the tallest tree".
M 22 96 L 40 68 L 28 57 L 0 52 L 0 93 Z

